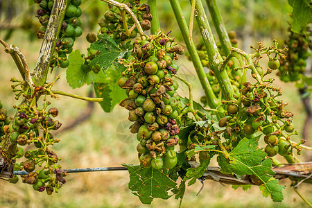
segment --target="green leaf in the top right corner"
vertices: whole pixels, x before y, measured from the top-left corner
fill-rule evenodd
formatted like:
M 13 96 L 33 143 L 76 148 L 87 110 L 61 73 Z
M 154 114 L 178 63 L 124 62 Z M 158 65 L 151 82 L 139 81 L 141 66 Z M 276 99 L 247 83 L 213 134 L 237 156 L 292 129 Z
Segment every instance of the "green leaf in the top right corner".
M 288 3 L 293 7 L 291 30 L 301 33 L 302 29 L 312 22 L 311 0 L 288 0 Z

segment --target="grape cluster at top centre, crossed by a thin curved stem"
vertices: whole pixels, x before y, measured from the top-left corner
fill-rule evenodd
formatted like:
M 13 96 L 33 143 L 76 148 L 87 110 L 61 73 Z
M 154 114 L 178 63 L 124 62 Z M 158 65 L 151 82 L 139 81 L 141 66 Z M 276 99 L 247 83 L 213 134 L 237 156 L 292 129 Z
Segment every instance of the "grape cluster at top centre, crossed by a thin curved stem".
M 135 1 L 130 1 L 130 3 L 125 4 L 132 10 L 132 12 L 134 12 L 141 24 L 141 28 L 143 28 L 144 31 L 150 30 L 150 21 L 153 17 L 152 14 L 150 14 L 150 7 L 148 4 L 140 4 Z M 129 36 L 125 33 L 121 11 L 114 7 L 110 7 L 110 10 L 105 12 L 104 18 L 101 18 L 98 21 L 98 25 L 101 27 L 100 32 L 102 34 L 107 33 L 118 44 L 137 37 L 137 28 L 135 28 L 135 23 L 130 15 L 125 15 L 125 21 L 130 31 Z

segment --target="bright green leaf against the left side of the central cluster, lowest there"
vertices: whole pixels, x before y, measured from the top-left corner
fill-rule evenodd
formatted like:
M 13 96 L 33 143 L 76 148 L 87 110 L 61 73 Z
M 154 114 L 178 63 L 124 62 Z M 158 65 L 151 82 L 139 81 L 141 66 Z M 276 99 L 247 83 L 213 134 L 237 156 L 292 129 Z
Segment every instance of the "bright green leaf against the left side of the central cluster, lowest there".
M 103 98 L 100 103 L 104 112 L 111 112 L 114 106 L 126 97 L 125 90 L 118 85 L 118 80 L 121 78 L 121 73 L 116 67 L 110 67 L 105 73 L 100 71 L 100 74 L 95 78 L 94 92 L 96 97 Z

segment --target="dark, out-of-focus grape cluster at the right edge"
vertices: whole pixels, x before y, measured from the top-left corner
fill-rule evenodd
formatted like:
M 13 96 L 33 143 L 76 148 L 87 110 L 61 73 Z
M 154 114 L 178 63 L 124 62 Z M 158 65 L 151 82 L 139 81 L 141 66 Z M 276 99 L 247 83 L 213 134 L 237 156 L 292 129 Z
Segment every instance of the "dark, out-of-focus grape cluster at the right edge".
M 311 55 L 309 49 L 312 49 L 309 28 L 302 34 L 294 33 L 290 28 L 288 31 L 289 37 L 285 44 L 289 50 L 285 52 L 286 59 L 280 60 L 281 67 L 277 73 L 284 82 L 300 80 L 300 74 L 306 71 L 306 59 Z

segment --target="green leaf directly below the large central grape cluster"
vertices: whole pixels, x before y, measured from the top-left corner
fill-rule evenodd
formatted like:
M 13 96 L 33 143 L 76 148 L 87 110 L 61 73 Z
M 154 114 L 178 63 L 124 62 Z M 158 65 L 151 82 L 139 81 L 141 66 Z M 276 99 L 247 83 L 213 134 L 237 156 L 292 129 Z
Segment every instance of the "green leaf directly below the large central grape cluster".
M 129 189 L 139 196 L 144 204 L 150 204 L 154 198 L 168 199 L 168 191 L 177 189 L 177 184 L 161 170 L 144 168 L 133 164 L 123 164 L 130 174 Z

